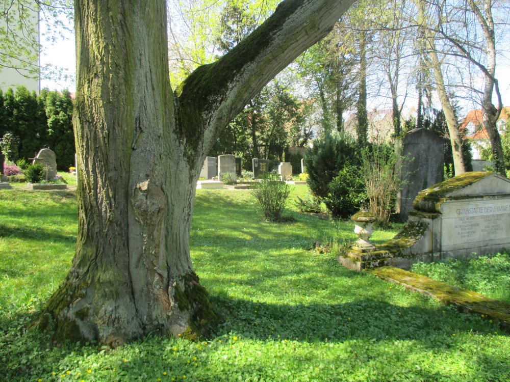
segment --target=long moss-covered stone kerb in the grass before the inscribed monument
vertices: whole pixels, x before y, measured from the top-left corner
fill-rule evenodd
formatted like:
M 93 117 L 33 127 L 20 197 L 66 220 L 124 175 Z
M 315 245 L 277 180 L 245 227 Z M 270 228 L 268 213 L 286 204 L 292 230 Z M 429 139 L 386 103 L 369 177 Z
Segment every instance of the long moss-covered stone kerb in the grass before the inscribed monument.
M 487 316 L 510 330 L 510 305 L 506 303 L 392 266 L 370 269 L 367 272 L 379 279 L 400 284 L 406 289 L 436 297 L 443 304 L 454 305 L 464 313 Z

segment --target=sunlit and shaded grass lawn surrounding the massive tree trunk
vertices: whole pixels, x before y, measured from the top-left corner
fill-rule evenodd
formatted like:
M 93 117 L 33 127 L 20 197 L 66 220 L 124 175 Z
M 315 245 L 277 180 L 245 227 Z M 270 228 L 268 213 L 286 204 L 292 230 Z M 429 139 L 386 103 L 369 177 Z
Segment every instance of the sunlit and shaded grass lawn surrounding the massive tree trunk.
M 69 269 L 75 194 L 2 190 L 0 380 L 510 381 L 508 333 L 312 251 L 354 238 L 353 224 L 288 206 L 294 223 L 260 222 L 249 192 L 197 190 L 191 256 L 225 319 L 207 341 L 52 348 L 27 327 Z

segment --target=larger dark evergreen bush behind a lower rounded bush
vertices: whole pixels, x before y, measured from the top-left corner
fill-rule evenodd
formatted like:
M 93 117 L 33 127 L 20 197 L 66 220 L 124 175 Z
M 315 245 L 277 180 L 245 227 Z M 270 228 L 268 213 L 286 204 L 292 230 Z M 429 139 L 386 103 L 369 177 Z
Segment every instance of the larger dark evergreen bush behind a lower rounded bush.
M 304 155 L 304 166 L 309 175 L 307 182 L 312 193 L 326 198 L 329 182 L 347 163 L 352 166 L 361 164 L 359 146 L 351 135 L 326 132 L 324 138 L 315 140 Z

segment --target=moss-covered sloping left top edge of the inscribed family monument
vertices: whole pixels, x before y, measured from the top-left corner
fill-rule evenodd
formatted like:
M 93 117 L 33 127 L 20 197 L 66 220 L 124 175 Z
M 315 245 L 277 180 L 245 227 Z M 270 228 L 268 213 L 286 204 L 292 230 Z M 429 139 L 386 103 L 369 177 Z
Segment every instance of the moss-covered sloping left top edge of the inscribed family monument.
M 418 196 L 413 202 L 413 208 L 424 212 L 440 212 L 441 204 L 447 199 L 449 193 L 465 188 L 492 174 L 492 172 L 466 172 L 445 180 L 444 182 L 435 184 L 418 193 Z

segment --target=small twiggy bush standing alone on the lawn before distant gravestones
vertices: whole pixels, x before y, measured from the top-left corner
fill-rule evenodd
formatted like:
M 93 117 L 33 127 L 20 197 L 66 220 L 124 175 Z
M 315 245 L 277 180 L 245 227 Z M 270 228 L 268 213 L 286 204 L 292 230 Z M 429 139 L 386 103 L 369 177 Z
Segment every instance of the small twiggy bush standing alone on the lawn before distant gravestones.
M 282 212 L 290 194 L 290 185 L 269 174 L 267 177 L 253 182 L 250 194 L 262 209 L 266 219 L 281 222 Z

